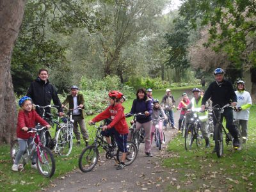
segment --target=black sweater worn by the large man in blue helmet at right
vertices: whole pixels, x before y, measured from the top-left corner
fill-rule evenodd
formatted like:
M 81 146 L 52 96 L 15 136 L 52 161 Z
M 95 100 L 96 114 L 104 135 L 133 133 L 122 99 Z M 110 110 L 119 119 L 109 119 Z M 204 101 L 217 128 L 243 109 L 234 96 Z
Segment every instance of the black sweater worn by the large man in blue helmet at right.
M 232 84 L 223 80 L 221 84 L 217 84 L 216 81 L 212 82 L 207 88 L 202 105 L 205 105 L 208 99 L 212 100 L 212 106 L 220 105 L 220 108 L 225 106 L 225 104 L 230 104 L 230 102 L 237 102 L 236 93 L 234 92 Z

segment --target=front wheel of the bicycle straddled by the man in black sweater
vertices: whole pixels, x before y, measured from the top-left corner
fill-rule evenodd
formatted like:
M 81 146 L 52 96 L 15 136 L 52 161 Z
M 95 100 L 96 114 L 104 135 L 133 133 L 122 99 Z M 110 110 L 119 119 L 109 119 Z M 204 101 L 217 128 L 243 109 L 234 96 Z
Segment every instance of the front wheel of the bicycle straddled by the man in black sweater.
M 221 126 L 221 124 L 216 124 L 214 129 L 215 150 L 218 157 L 223 156 L 223 134 Z

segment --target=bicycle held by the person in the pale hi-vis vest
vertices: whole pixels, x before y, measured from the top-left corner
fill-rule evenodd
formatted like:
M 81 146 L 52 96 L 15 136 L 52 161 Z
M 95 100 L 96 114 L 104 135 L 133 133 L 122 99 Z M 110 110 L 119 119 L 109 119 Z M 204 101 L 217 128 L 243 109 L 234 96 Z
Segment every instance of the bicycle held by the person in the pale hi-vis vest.
M 202 141 L 204 139 L 202 131 L 200 129 L 200 120 L 198 112 L 191 111 L 191 116 L 187 116 L 187 125 L 185 129 L 185 149 L 191 149 L 193 141 L 196 140 L 196 146 L 202 147 Z

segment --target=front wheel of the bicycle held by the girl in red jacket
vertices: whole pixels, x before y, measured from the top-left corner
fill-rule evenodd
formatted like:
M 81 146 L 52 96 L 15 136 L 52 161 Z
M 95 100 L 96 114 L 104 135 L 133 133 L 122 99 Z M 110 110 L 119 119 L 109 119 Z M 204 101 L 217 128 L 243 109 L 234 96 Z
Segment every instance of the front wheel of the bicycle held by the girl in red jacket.
M 55 160 L 52 152 L 47 147 L 39 147 L 39 154 L 36 157 L 38 172 L 44 177 L 52 177 L 55 172 Z

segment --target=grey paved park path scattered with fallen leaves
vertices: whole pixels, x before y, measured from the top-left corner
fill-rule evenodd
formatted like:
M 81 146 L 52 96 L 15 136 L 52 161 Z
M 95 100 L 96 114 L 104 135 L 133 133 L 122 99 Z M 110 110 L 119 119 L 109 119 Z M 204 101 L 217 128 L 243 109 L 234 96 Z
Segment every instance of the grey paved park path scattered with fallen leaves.
M 179 111 L 174 113 L 175 125 L 178 125 Z M 177 129 L 164 131 L 166 144 L 159 151 L 152 143 L 153 157 L 144 153 L 144 145 L 134 163 L 124 170 L 116 170 L 113 159 L 107 160 L 105 154 L 100 154 L 99 162 L 92 172 L 83 173 L 79 169 L 67 173 L 64 177 L 53 180 L 46 191 L 166 191 L 166 184 L 172 182 L 175 170 L 164 168 L 162 160 L 168 157 L 167 143 L 177 134 Z

